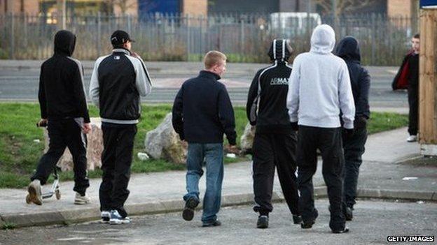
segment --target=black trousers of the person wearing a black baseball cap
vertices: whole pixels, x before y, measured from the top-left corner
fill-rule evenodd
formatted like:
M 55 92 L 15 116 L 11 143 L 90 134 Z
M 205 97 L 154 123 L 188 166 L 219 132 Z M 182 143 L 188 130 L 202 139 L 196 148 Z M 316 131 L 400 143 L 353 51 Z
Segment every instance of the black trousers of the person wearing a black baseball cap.
M 103 126 L 102 184 L 99 189 L 100 210 L 118 210 L 125 217 L 125 201 L 129 196 L 127 185 L 134 150 L 137 125 L 123 127 Z

